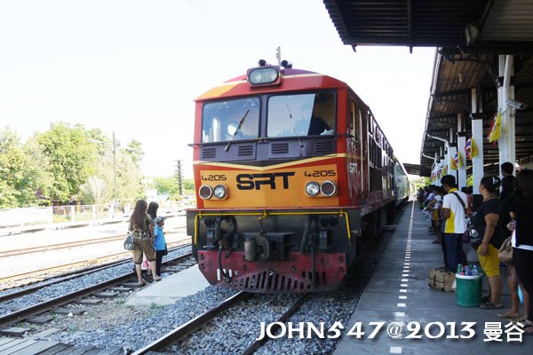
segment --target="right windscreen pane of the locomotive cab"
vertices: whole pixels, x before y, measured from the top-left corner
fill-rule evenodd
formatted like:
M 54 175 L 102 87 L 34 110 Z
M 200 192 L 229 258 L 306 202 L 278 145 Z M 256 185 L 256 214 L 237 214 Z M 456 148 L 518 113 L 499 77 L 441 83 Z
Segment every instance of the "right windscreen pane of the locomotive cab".
M 267 137 L 325 136 L 335 133 L 333 92 L 279 95 L 268 99 Z

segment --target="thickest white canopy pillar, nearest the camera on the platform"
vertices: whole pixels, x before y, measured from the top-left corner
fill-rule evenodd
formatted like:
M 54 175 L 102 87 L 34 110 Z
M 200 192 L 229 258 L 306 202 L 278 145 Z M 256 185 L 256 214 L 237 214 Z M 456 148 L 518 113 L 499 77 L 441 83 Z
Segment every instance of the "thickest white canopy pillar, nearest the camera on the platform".
M 503 77 L 503 83 L 498 88 L 497 93 L 497 107 L 501 113 L 501 129 L 500 138 L 497 142 L 499 149 L 499 162 L 516 162 L 515 154 L 515 110 L 507 104 L 509 99 L 514 99 L 514 86 L 511 86 L 511 77 L 513 76 L 513 56 L 500 55 L 499 59 L 499 75 Z M 501 172 L 500 172 L 501 175 Z

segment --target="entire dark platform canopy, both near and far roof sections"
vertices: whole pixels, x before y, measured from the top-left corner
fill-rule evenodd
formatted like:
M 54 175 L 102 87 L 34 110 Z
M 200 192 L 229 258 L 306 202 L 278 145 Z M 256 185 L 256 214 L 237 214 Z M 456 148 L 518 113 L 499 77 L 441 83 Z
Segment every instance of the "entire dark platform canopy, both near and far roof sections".
M 481 101 L 484 133 L 497 111 L 498 55 L 514 55 L 515 99 L 528 107 L 516 113 L 516 158 L 533 156 L 533 1 L 524 0 L 324 0 L 343 43 L 437 48 L 420 165 L 410 173 L 430 176 L 443 142 L 429 138 L 471 130 L 472 89 Z M 450 131 L 451 130 L 451 131 Z M 453 142 L 452 142 L 453 143 Z M 486 165 L 497 166 L 497 146 L 478 148 Z M 405 165 L 405 164 L 404 164 Z M 407 169 L 407 168 L 406 168 Z M 490 169 L 489 166 L 487 169 Z M 497 169 L 496 169 L 497 170 Z

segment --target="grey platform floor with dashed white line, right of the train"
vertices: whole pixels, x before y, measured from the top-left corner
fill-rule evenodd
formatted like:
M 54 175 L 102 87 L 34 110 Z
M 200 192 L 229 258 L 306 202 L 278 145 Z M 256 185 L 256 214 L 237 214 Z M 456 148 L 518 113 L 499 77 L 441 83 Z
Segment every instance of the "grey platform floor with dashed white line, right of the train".
M 410 203 L 352 318 L 343 324 L 343 338 L 334 354 L 531 354 L 533 336 L 522 336 L 521 343 L 508 342 L 505 326 L 510 323 L 510 319 L 497 317 L 498 312 L 504 312 L 511 304 L 506 279 L 504 310 L 484 311 L 477 307 L 462 307 L 457 305 L 455 292 L 445 293 L 428 288 L 429 271 L 443 265 L 441 245 L 432 244 L 434 235 L 427 233 L 428 225 L 418 207 Z M 472 257 L 469 257 L 470 261 L 473 261 Z M 504 273 L 505 270 L 503 268 Z M 486 277 L 483 279 L 483 289 L 487 290 Z M 375 328 L 370 326 L 370 322 L 378 321 L 386 323 L 375 338 L 368 339 Z M 407 324 L 411 321 L 420 323 L 420 339 L 405 338 L 411 333 L 407 329 Z M 444 335 L 436 339 L 428 338 L 424 332 L 424 327 L 431 322 L 442 322 L 443 325 L 446 322 L 456 322 L 456 335 L 466 335 L 466 332 L 461 332 L 463 326 L 460 324 L 463 321 L 476 322 L 472 339 L 446 339 L 449 327 L 445 328 Z M 357 322 L 362 322 L 362 331 L 365 332 L 361 339 L 346 335 Z M 394 339 L 387 334 L 387 327 L 391 322 L 402 325 L 402 335 L 399 338 Z M 485 335 L 485 322 L 499 323 L 502 342 L 484 341 L 488 338 Z M 430 335 L 439 333 L 438 327 L 432 326 L 430 329 Z

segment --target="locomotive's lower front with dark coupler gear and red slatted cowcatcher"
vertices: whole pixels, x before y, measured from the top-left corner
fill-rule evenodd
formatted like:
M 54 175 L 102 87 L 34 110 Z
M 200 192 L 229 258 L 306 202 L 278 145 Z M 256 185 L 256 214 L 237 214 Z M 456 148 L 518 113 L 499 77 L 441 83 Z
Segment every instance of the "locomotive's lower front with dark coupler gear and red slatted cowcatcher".
M 200 271 L 212 284 L 256 293 L 335 289 L 386 208 L 187 211 Z

